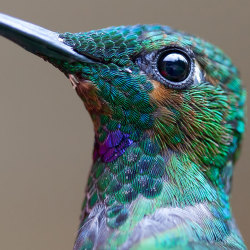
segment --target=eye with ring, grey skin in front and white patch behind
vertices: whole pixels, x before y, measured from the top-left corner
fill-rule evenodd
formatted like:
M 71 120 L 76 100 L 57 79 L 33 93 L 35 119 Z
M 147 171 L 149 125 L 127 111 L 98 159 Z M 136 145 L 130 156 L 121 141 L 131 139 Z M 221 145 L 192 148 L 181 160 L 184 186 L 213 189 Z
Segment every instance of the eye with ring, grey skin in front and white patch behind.
M 206 81 L 206 74 L 186 47 L 168 46 L 158 51 L 142 54 L 136 64 L 150 78 L 172 89 L 186 89 Z

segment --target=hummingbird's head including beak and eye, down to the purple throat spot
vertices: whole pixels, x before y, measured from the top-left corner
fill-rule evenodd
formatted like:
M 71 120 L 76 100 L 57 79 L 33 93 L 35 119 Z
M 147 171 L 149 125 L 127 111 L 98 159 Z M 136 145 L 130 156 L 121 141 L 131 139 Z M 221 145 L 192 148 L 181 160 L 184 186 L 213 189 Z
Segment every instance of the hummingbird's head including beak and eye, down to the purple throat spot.
M 235 160 L 245 92 L 217 47 L 167 26 L 59 34 L 2 16 L 4 36 L 70 79 L 92 117 L 97 144 L 126 138 L 119 156 L 143 141 L 148 151 L 186 155 L 207 168 Z

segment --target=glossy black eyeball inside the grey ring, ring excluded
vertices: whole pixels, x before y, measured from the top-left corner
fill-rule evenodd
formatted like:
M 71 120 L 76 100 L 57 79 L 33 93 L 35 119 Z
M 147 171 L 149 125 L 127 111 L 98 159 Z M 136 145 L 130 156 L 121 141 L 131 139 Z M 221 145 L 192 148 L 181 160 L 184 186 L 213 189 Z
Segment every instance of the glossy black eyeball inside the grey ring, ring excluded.
M 190 59 L 181 52 L 168 51 L 158 59 L 158 70 L 167 80 L 181 82 L 190 73 Z

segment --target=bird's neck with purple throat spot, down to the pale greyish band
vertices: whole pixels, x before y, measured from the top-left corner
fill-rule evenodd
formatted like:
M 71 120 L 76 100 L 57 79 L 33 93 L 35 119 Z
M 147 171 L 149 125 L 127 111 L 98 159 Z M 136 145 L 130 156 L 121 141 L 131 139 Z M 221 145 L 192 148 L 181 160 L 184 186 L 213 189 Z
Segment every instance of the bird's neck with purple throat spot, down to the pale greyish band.
M 127 207 L 143 199 L 153 202 L 154 211 L 207 203 L 221 217 L 231 217 L 225 184 L 228 174 L 225 179 L 223 172 L 202 166 L 185 154 L 162 150 L 148 136 L 134 141 L 120 129 L 102 131 L 96 136 L 93 158 L 84 216 L 98 203 L 108 208 Z M 232 168 L 229 163 L 225 171 Z

